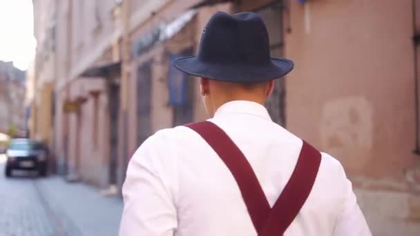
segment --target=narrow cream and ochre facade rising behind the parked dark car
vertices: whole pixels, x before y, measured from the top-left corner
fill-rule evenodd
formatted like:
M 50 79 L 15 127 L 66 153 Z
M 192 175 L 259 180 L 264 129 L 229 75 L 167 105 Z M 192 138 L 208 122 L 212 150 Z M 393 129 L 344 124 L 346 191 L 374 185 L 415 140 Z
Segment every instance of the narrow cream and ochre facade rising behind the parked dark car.
M 48 164 L 55 170 L 53 104 L 55 88 L 56 51 L 56 1 L 33 1 L 34 36 L 37 40 L 35 61 L 29 68 L 28 95 L 29 134 L 31 139 L 42 141 L 48 146 Z

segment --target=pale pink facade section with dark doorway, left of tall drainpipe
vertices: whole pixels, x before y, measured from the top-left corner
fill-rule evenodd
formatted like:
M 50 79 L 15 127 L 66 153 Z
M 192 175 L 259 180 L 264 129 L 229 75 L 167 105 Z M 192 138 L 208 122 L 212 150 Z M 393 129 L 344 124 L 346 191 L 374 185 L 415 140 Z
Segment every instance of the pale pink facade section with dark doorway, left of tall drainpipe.
M 118 61 L 112 46 L 120 38 L 117 10 L 107 1 L 57 1 L 55 152 L 59 173 L 97 186 L 114 184 L 110 174 L 110 104 L 113 78 L 84 72 Z M 115 70 L 117 71 L 117 69 Z M 117 72 L 116 74 L 118 74 Z M 89 74 L 89 73 L 88 73 Z M 116 78 L 117 79 L 117 78 Z

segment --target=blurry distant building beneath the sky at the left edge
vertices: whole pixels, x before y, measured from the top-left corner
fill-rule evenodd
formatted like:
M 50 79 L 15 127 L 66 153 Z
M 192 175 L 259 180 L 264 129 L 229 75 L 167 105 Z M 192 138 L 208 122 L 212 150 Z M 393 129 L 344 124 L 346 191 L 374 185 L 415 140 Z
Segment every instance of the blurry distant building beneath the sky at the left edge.
M 0 61 L 0 132 L 26 136 L 25 72 Z

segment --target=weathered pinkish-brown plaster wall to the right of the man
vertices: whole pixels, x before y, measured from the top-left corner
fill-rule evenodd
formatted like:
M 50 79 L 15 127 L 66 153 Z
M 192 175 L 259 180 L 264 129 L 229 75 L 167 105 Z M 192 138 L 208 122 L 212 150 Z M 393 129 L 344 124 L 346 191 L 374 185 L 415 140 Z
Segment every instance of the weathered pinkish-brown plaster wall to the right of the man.
M 287 128 L 341 161 L 374 235 L 417 235 L 411 1 L 292 1 L 290 12 Z

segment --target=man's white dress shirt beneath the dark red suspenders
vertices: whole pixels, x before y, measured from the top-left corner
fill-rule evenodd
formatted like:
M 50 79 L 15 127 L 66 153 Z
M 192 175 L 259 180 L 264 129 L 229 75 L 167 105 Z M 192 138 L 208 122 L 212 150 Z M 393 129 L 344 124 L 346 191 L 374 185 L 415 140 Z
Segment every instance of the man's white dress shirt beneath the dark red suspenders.
M 242 150 L 270 206 L 292 175 L 303 141 L 271 121 L 264 106 L 231 101 L 209 121 Z M 255 236 L 235 179 L 190 128 L 160 130 L 128 164 L 120 236 Z M 336 159 L 322 153 L 307 201 L 287 235 L 371 235 L 352 184 Z

